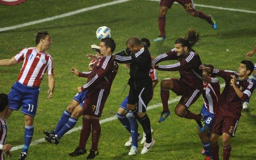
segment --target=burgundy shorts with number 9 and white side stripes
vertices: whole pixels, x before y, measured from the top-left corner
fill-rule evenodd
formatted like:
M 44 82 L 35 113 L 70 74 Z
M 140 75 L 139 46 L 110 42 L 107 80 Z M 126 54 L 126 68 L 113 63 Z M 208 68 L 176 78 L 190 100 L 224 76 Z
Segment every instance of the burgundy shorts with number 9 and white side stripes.
M 109 90 L 106 89 L 88 90 L 84 101 L 83 115 L 100 117 L 108 96 Z

